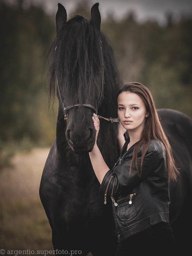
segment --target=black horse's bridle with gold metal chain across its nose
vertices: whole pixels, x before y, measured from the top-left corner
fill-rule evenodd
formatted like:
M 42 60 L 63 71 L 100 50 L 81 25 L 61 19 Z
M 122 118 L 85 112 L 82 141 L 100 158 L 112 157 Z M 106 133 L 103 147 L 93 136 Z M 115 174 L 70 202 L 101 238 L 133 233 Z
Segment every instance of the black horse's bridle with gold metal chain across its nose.
M 57 46 L 55 47 L 55 51 L 57 49 Z M 102 50 L 102 47 L 101 47 L 101 50 Z M 103 58 L 102 58 L 102 64 L 103 64 Z M 103 65 L 102 65 L 103 67 Z M 56 71 L 55 71 L 56 72 Z M 57 74 L 56 74 L 56 78 L 57 78 Z M 104 83 L 104 68 L 103 68 L 103 72 L 102 72 L 102 88 L 103 88 L 103 83 Z M 103 116 L 100 116 L 98 115 L 97 113 L 97 108 L 93 107 L 91 104 L 87 104 L 87 103 L 83 103 L 83 104 L 79 104 L 79 103 L 76 103 L 76 104 L 73 104 L 73 105 L 69 105 L 67 107 L 65 107 L 65 104 L 64 102 L 62 101 L 62 98 L 61 98 L 61 94 L 60 94 L 60 89 L 59 89 L 59 83 L 58 83 L 58 79 L 57 79 L 57 88 L 58 88 L 58 92 L 59 92 L 59 97 L 60 97 L 60 101 L 62 103 L 62 106 L 63 106 L 63 111 L 64 111 L 64 119 L 67 121 L 67 110 L 70 109 L 70 108 L 74 108 L 74 107 L 79 107 L 79 106 L 84 106 L 84 107 L 87 107 L 87 108 L 91 108 L 94 110 L 95 114 L 97 114 L 97 116 L 101 119 L 104 119 L 106 121 L 110 121 L 111 123 L 119 123 L 119 118 L 107 118 L 107 117 L 103 117 Z M 102 93 L 100 94 L 100 99 L 102 97 Z M 100 102 L 100 99 L 98 101 L 98 104 Z

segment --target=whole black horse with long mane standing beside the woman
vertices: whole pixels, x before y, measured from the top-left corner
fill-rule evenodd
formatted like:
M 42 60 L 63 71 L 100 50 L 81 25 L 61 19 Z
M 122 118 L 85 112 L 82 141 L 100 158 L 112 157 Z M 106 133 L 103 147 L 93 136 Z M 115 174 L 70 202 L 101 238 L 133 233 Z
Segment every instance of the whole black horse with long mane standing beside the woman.
M 116 95 L 122 83 L 113 50 L 100 31 L 99 3 L 91 19 L 76 15 L 67 21 L 58 4 L 57 35 L 48 52 L 49 96 L 59 99 L 56 138 L 46 160 L 40 199 L 52 228 L 58 254 L 113 256 L 116 249 L 111 205 L 103 203 L 89 159 L 95 141 L 92 114 L 100 116 L 98 146 L 109 168 L 120 154 Z M 191 230 L 192 120 L 175 110 L 158 110 L 173 148 L 180 179 L 170 184 L 170 221 L 178 253 L 186 250 Z M 104 117 L 104 118 L 103 118 Z

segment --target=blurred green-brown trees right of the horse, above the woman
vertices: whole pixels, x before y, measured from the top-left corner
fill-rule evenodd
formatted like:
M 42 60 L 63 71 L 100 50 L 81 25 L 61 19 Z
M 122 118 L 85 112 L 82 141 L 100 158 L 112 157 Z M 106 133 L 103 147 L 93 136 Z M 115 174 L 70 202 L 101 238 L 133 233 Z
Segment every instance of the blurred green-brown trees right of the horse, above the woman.
M 192 18 L 167 25 L 139 23 L 133 12 L 121 20 L 102 23 L 108 32 L 124 83 L 138 81 L 153 93 L 157 108 L 173 108 L 192 117 Z

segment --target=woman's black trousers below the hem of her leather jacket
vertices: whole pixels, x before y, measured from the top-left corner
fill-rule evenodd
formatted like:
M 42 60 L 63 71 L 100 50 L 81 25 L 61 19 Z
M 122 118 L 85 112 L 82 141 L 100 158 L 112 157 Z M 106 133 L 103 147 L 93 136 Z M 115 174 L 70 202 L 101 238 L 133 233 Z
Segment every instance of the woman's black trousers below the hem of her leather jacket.
M 119 242 L 115 256 L 174 256 L 174 247 L 170 224 L 160 222 Z

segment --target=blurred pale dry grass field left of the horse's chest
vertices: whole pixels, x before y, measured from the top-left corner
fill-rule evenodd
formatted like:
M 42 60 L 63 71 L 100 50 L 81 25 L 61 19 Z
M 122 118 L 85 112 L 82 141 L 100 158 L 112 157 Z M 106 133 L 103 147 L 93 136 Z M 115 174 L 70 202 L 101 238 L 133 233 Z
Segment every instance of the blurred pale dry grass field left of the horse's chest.
M 17 153 L 12 167 L 0 170 L 0 249 L 5 252 L 53 250 L 51 228 L 39 198 L 48 153 L 49 148 Z

